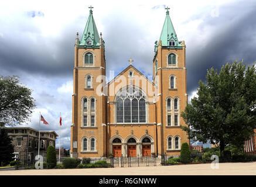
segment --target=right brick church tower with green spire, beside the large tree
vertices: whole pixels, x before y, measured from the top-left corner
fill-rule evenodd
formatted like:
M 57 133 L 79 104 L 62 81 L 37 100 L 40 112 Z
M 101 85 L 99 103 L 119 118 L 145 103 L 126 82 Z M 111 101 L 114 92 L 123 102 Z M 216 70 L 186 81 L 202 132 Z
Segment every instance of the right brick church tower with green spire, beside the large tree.
M 153 82 L 159 88 L 156 100 L 156 130 L 158 154 L 178 154 L 181 144 L 189 139 L 180 126 L 185 126 L 181 112 L 187 103 L 186 46 L 179 41 L 169 8 L 159 41 L 155 42 L 153 57 Z

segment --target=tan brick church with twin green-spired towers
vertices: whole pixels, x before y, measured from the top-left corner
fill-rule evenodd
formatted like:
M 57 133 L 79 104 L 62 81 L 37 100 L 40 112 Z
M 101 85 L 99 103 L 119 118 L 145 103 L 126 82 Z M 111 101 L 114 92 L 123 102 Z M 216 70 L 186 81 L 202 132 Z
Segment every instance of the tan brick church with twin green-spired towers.
M 81 40 L 77 33 L 74 46 L 71 157 L 180 154 L 182 143 L 190 144 L 180 128 L 186 125 L 180 114 L 188 99 L 186 46 L 178 40 L 169 8 L 148 62 L 153 79 L 130 59 L 130 65 L 110 82 L 105 78 L 104 40 L 92 8 Z

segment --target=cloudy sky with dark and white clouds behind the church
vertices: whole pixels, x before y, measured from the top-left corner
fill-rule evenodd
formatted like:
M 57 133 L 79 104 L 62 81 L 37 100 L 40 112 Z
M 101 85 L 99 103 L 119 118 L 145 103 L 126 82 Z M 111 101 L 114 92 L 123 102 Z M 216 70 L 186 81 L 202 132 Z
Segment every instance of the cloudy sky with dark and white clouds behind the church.
M 138 70 L 152 75 L 153 47 L 161 34 L 166 6 L 178 39 L 186 44 L 189 99 L 196 95 L 207 69 L 220 70 L 234 60 L 256 61 L 256 2 L 120 2 L 0 2 L 0 75 L 18 75 L 22 84 L 33 89 L 37 108 L 26 126 L 38 130 L 41 112 L 50 124 L 42 124 L 41 129 L 59 134 L 62 113 L 64 148 L 70 148 L 74 42 L 77 32 L 83 34 L 90 5 L 105 40 L 107 74 L 111 70 L 117 75 L 131 57 Z

